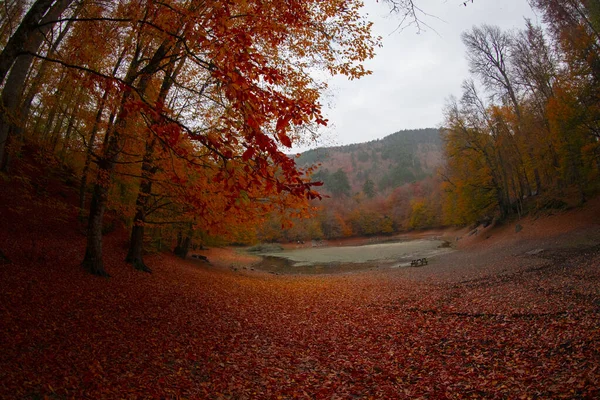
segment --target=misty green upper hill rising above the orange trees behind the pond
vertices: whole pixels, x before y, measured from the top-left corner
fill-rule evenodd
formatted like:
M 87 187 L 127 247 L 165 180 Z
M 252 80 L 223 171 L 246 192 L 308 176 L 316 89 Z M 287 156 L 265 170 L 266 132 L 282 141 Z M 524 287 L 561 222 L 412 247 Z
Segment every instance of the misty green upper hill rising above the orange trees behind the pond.
M 402 130 L 383 139 L 318 148 L 300 155 L 299 166 L 320 164 L 315 180 L 330 194 L 374 195 L 431 176 L 442 161 L 438 129 Z M 366 190 L 365 190 L 366 189 Z

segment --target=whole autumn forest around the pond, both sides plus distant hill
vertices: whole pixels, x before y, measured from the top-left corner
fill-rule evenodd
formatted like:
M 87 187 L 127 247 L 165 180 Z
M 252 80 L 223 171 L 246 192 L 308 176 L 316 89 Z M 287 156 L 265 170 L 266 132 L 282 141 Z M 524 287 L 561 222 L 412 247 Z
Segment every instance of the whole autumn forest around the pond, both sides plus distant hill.
M 131 230 L 128 262 L 150 271 L 144 247 L 389 235 L 583 204 L 600 190 L 598 11 L 532 6 L 544 26 L 463 33 L 471 78 L 441 129 L 296 157 L 285 149 L 327 124 L 326 81 L 304 71 L 370 73 L 379 38 L 359 2 L 277 18 L 273 4 L 7 2 L 2 170 L 31 151 L 74 175 L 84 265 L 99 275 L 107 212 Z

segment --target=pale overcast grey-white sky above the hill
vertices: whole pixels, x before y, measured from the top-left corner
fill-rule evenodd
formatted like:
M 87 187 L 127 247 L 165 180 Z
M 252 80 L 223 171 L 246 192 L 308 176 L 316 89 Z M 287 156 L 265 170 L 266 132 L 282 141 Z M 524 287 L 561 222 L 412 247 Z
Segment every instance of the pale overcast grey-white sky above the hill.
M 524 18 L 540 23 L 527 0 L 415 0 L 428 15 L 420 19 L 429 27 L 398 30 L 399 16 L 390 15 L 381 1 L 365 0 L 364 12 L 382 36 L 383 48 L 366 63 L 373 74 L 359 80 L 329 80 L 322 99 L 328 127 L 321 138 L 304 151 L 361 143 L 383 138 L 403 129 L 436 128 L 443 122 L 443 108 L 469 77 L 465 47 L 460 35 L 474 25 L 522 29 Z

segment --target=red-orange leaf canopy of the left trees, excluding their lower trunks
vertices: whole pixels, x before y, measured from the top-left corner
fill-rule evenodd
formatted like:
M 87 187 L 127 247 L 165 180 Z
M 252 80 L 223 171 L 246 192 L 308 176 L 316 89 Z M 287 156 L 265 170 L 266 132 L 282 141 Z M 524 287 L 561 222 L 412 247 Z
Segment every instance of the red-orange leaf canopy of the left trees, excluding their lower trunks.
M 194 221 L 226 230 L 252 225 L 276 206 L 304 209 L 307 198 L 320 198 L 317 185 L 283 151 L 327 124 L 319 103 L 327 78 L 313 70 L 353 78 L 367 73 L 361 64 L 378 40 L 358 12 L 361 5 L 82 4 L 83 17 L 52 37 L 73 29 L 56 42 L 60 52 L 48 52 L 63 62 L 35 64 L 49 70 L 32 75 L 44 93 L 32 91 L 41 101 L 38 121 L 27 125 L 43 126 L 40 137 L 52 132 L 60 139 L 54 147 L 63 161 L 80 158 L 84 146 L 89 159 L 95 153 L 100 162 L 86 162 L 85 171 L 99 167 L 98 183 L 126 219 L 148 203 L 157 223 Z M 83 93 L 81 101 L 69 99 L 68 86 Z M 139 197 L 142 185 L 151 193 Z

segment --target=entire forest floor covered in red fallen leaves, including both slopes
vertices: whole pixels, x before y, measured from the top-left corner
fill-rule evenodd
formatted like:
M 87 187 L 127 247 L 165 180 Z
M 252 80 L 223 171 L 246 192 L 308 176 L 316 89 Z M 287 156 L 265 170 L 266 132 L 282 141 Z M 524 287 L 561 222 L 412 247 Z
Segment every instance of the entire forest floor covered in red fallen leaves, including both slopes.
M 7 182 L 0 398 L 600 397 L 600 199 L 449 232 L 458 251 L 421 268 L 341 274 L 269 274 L 231 249 L 149 256 L 147 274 L 116 229 L 106 279 L 52 200 L 74 188 Z

